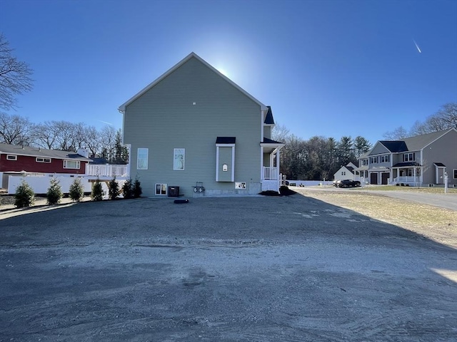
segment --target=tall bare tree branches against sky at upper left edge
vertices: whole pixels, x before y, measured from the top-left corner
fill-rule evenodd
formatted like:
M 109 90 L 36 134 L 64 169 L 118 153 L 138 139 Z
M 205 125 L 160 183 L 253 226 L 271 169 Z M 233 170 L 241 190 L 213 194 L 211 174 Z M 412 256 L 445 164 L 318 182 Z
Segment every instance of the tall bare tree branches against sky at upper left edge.
M 9 42 L 0 33 L 0 108 L 16 108 L 16 95 L 32 89 L 33 71 L 25 62 L 11 55 Z

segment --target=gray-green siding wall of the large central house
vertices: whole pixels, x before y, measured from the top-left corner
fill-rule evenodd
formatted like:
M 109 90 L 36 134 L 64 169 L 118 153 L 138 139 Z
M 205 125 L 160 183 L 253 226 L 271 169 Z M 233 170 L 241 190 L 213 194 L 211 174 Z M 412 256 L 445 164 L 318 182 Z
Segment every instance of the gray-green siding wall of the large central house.
M 195 105 L 194 105 L 195 103 Z M 261 182 L 261 108 L 196 58 L 126 107 L 124 142 L 131 144 L 131 177 L 139 177 L 145 196 L 154 185 L 179 186 L 191 196 L 193 185 L 233 190 L 216 182 L 216 138 L 236 137 L 235 182 Z M 148 170 L 136 170 L 136 149 L 149 148 Z M 173 170 L 174 148 L 185 148 L 185 170 Z

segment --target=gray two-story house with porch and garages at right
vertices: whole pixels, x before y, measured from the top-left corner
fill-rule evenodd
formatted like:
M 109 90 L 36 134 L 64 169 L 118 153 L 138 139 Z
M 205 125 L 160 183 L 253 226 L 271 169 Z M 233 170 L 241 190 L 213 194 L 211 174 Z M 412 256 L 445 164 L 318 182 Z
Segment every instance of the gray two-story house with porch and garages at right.
M 359 159 L 358 177 L 370 184 L 457 186 L 457 130 L 376 142 Z

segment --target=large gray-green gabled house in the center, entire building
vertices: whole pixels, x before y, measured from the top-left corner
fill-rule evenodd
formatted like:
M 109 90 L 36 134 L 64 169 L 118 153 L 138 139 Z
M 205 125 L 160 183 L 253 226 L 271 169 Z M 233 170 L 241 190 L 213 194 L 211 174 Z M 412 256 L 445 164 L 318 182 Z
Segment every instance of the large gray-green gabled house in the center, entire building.
M 271 108 L 195 53 L 119 107 L 131 177 L 145 196 L 279 189 Z M 171 190 L 171 191 L 170 191 Z

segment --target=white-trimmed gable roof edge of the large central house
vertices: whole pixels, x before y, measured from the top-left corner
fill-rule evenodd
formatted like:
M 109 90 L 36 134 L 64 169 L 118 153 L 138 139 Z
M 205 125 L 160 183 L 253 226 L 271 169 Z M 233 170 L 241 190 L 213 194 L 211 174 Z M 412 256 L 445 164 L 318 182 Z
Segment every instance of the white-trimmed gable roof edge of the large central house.
M 154 86 L 156 86 L 157 83 L 159 83 L 160 81 L 162 81 L 164 78 L 166 78 L 166 76 L 169 76 L 171 73 L 173 73 L 174 71 L 176 71 L 176 69 L 178 69 L 180 66 L 182 66 L 184 63 L 186 63 L 187 61 L 189 61 L 191 58 L 196 58 L 198 61 L 200 61 L 201 63 L 203 63 L 207 68 L 211 69 L 211 71 L 214 71 L 216 74 L 218 74 L 218 76 L 220 76 L 221 78 L 224 78 L 224 80 L 226 80 L 227 82 L 229 82 L 233 87 L 235 87 L 236 89 L 238 89 L 239 91 L 241 91 L 241 93 L 243 93 L 244 95 L 246 95 L 248 98 L 250 98 L 251 100 L 253 100 L 255 103 L 258 103 L 258 105 L 260 105 L 261 107 L 261 110 L 267 110 L 267 107 L 266 105 L 264 105 L 263 103 L 261 103 L 259 100 L 257 100 L 256 98 L 253 97 L 253 95 L 249 94 L 246 90 L 244 90 L 243 88 L 241 88 L 240 86 L 238 86 L 236 83 L 234 83 L 233 81 L 231 81 L 230 78 L 228 78 L 227 76 L 225 76 L 223 73 L 221 73 L 220 71 L 218 71 L 216 68 L 214 68 L 214 66 L 211 66 L 211 64 L 209 64 L 208 62 L 204 61 L 203 58 L 201 58 L 200 56 L 198 56 L 196 53 L 194 52 L 191 52 L 189 53 L 189 55 L 187 55 L 184 59 L 182 59 L 179 63 L 176 63 L 173 67 L 171 67 L 168 71 L 166 71 L 164 74 L 162 74 L 161 76 L 159 76 L 159 78 L 156 78 L 156 80 L 154 80 L 153 82 L 149 83 L 148 86 L 144 87 L 143 89 L 141 89 L 138 93 L 136 93 L 134 96 L 132 96 L 131 98 L 129 98 L 129 100 L 127 100 L 126 102 L 124 102 L 122 105 L 119 106 L 118 110 L 119 112 L 121 113 L 125 113 L 125 110 L 126 110 L 126 107 L 127 105 L 130 105 L 132 102 L 134 102 L 134 100 L 136 100 L 137 98 L 139 98 L 141 95 L 143 95 L 144 93 L 146 93 L 148 90 L 150 90 L 151 88 L 154 88 Z

